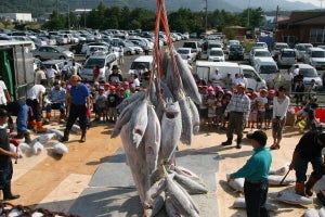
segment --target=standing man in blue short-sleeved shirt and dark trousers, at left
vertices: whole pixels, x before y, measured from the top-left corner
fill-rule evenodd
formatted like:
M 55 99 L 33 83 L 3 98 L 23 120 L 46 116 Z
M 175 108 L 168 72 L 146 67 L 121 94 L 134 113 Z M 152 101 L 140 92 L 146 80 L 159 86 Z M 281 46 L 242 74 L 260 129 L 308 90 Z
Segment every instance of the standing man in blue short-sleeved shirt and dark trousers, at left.
M 73 128 L 76 119 L 79 118 L 79 125 L 81 129 L 81 138 L 79 142 L 86 142 L 87 130 L 87 111 L 90 110 L 90 98 L 88 87 L 81 82 L 81 78 L 78 75 L 73 75 L 69 79 L 72 85 L 70 98 L 68 98 L 67 104 L 69 104 L 69 116 L 64 130 L 64 136 L 60 140 L 66 142 L 69 140 L 69 131 Z

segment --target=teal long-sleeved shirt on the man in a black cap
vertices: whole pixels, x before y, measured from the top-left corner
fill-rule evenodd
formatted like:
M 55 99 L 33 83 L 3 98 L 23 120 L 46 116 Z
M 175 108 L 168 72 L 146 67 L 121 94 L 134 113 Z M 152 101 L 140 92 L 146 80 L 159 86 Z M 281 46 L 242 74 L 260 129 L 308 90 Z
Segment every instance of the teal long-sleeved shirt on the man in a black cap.
M 232 179 L 245 178 L 249 181 L 268 179 L 272 163 L 272 155 L 265 146 L 253 149 L 255 153 L 247 163 L 236 173 L 231 175 Z

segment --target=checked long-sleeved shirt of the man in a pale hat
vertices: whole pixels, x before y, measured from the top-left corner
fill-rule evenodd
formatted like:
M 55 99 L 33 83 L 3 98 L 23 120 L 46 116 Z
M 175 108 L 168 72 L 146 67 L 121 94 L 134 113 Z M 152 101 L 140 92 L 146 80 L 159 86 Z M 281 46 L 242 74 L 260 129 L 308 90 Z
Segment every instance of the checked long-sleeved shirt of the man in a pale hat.
M 250 111 L 250 100 L 246 94 L 233 94 L 225 112 L 243 112 L 248 119 Z

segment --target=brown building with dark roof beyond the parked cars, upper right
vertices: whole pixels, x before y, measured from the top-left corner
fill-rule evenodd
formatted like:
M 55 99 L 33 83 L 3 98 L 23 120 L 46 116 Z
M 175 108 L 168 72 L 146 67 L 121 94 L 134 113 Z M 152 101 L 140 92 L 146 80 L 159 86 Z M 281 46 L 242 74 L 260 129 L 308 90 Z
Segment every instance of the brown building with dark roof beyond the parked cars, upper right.
M 286 20 L 277 21 L 275 41 L 325 44 L 325 11 L 292 12 Z

